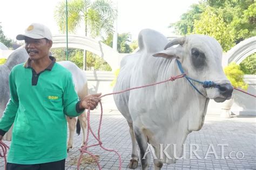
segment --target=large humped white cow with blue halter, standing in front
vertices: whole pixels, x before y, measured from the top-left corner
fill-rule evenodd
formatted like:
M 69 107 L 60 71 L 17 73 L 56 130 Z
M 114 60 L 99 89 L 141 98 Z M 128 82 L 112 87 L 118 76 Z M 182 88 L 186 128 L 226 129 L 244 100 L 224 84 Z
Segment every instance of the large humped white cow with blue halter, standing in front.
M 154 159 L 154 169 L 160 169 L 163 163 L 175 163 L 176 158 L 183 154 L 183 144 L 188 133 L 202 128 L 210 98 L 223 102 L 232 95 L 233 87 L 221 67 L 222 49 L 218 41 L 208 36 L 190 35 L 168 42 L 159 32 L 149 29 L 141 31 L 138 39 L 140 50 L 125 56 L 121 61 L 113 91 L 144 86 L 180 75 L 176 60 L 181 62 L 187 76 L 200 81 L 214 81 L 219 88 L 204 88 L 193 82 L 199 94 L 183 77 L 173 82 L 114 95 L 118 110 L 130 126 L 130 168 L 138 166 L 136 141 L 140 158 L 145 158 L 140 159 L 142 169 L 147 169 L 150 161 L 149 154 L 144 157 L 148 144 L 153 146 L 157 158 Z M 161 147 L 166 148 L 166 152 L 160 153 Z

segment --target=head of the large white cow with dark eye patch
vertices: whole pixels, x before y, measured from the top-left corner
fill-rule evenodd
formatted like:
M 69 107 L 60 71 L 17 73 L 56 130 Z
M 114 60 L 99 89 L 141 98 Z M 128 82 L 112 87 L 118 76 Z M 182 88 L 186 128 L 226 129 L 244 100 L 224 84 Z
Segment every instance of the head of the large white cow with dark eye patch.
M 176 58 L 181 62 L 187 76 L 199 81 L 217 83 L 219 88 L 205 89 L 201 84 L 196 84 L 196 87 L 204 96 L 214 99 L 216 102 L 224 102 L 231 98 L 233 87 L 221 66 L 222 53 L 222 48 L 217 40 L 209 36 L 194 34 L 170 41 L 164 51 L 153 54 L 153 56 Z

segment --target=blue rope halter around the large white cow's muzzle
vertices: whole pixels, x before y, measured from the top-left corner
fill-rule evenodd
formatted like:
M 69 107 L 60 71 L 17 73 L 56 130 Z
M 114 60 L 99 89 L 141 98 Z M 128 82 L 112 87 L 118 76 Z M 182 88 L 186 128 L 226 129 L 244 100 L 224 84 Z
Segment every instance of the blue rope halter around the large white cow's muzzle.
M 179 67 L 179 70 L 180 70 L 181 74 L 185 74 L 185 73 L 184 73 L 184 70 L 183 70 L 183 68 L 182 68 L 182 66 L 181 66 L 180 61 L 179 61 L 179 60 L 176 60 L 176 61 L 177 61 L 177 64 L 178 64 L 178 67 Z M 195 82 L 198 82 L 198 83 L 200 83 L 200 84 L 203 84 L 203 87 L 204 87 L 204 88 L 210 88 L 210 87 L 217 87 L 217 88 L 219 88 L 219 85 L 216 84 L 216 83 L 214 83 L 213 81 L 204 81 L 204 82 L 202 82 L 202 81 L 199 81 L 199 80 L 196 80 L 196 79 L 192 79 L 191 77 L 188 77 L 187 75 L 185 75 L 185 78 L 187 79 L 188 82 L 190 82 L 191 86 L 192 86 L 194 89 L 196 89 L 197 92 L 198 92 L 200 95 L 203 95 L 203 94 L 201 94 L 201 92 L 197 89 L 197 87 L 194 86 L 194 84 L 191 82 L 191 80 L 192 80 L 192 81 L 195 81 Z M 203 95 L 203 96 L 204 96 L 204 95 Z

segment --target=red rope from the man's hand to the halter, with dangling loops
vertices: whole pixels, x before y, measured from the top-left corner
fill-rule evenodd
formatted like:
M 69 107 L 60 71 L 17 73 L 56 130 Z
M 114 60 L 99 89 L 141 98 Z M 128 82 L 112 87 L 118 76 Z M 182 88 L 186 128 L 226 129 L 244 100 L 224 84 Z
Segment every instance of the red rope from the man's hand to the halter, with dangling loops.
M 167 79 L 165 81 L 148 84 L 146 86 L 134 87 L 134 88 L 126 89 L 126 90 L 119 91 L 119 92 L 116 92 L 116 93 L 105 94 L 103 96 L 100 96 L 100 98 L 105 97 L 105 96 L 109 96 L 109 95 L 124 93 L 126 91 L 130 91 L 130 90 L 133 90 L 133 89 L 139 89 L 139 88 L 154 86 L 156 84 L 165 83 L 167 81 L 174 81 L 174 80 L 179 79 L 179 78 L 184 77 L 184 76 L 185 76 L 185 74 L 181 74 L 181 75 L 178 75 L 178 76 L 171 77 L 170 79 Z M 122 160 L 121 160 L 120 154 L 118 154 L 118 152 L 115 151 L 115 150 L 109 150 L 109 149 L 107 149 L 107 148 L 102 146 L 102 141 L 100 140 L 100 128 L 101 128 L 101 124 L 102 124 L 103 107 L 102 107 L 102 102 L 99 102 L 99 104 L 100 104 L 100 119 L 99 119 L 99 128 L 98 128 L 98 137 L 95 135 L 95 133 L 93 133 L 93 131 L 91 129 L 91 124 L 90 124 L 90 108 L 87 111 L 87 134 L 86 134 L 85 146 L 80 148 L 81 154 L 80 154 L 80 157 L 78 159 L 78 164 L 77 164 L 77 169 L 78 170 L 79 170 L 79 167 L 80 167 L 80 164 L 81 164 L 81 160 L 83 158 L 83 154 L 84 153 L 90 154 L 96 160 L 96 163 L 97 163 L 99 169 L 102 169 L 102 167 L 100 167 L 98 159 L 95 157 L 95 155 L 93 155 L 91 152 L 87 151 L 87 148 L 92 147 L 92 146 L 97 146 L 97 145 L 102 147 L 105 151 L 115 152 L 118 155 L 118 158 L 119 158 L 119 169 L 122 168 Z M 90 132 L 91 132 L 92 136 L 98 141 L 98 144 L 87 146 L 88 140 L 89 140 L 89 133 Z

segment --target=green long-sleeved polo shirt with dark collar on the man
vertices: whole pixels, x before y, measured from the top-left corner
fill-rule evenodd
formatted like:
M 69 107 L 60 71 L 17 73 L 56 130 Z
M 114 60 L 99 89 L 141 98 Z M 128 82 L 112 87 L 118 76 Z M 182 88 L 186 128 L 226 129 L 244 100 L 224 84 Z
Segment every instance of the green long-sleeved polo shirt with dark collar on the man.
M 0 120 L 1 133 L 14 123 L 10 163 L 42 164 L 67 157 L 65 115 L 75 117 L 83 110 L 78 109 L 72 74 L 51 59 L 39 74 L 30 67 L 30 60 L 11 70 L 10 101 Z

